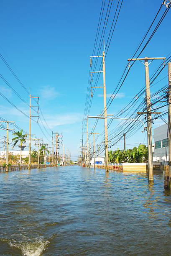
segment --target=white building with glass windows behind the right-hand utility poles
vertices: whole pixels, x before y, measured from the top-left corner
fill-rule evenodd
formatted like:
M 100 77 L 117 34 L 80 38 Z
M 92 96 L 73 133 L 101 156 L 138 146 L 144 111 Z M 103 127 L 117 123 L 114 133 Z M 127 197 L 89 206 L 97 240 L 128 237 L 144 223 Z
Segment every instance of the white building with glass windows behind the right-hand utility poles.
M 168 163 L 168 125 L 164 124 L 153 130 L 154 154 L 153 161 Z M 167 156 L 167 158 L 166 158 Z

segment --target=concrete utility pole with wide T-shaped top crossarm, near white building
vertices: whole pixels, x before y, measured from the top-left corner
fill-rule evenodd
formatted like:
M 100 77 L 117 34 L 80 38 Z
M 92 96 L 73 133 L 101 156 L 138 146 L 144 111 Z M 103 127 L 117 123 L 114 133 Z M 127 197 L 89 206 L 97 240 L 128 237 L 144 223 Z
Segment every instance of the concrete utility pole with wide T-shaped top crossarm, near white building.
M 141 61 L 144 60 L 145 63 L 145 84 L 146 84 L 146 108 L 147 112 L 138 112 L 138 114 L 147 114 L 147 138 L 148 138 L 148 182 L 153 182 L 153 152 L 152 152 L 152 129 L 151 129 L 151 114 L 159 112 L 151 112 L 151 100 L 150 100 L 150 80 L 148 72 L 148 60 L 154 59 L 166 59 L 165 57 L 159 58 L 138 58 L 138 59 L 128 59 L 128 61 Z M 161 113 L 161 112 L 160 112 Z

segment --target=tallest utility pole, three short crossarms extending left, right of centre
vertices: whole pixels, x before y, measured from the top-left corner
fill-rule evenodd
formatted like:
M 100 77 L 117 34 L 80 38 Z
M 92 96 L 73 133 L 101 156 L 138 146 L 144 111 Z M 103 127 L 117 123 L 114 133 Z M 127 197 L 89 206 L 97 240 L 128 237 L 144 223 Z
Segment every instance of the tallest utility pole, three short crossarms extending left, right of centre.
M 99 86 L 98 88 L 103 88 L 103 97 L 104 97 L 104 117 L 105 117 L 105 164 L 106 164 L 106 172 L 109 172 L 109 158 L 108 158 L 108 138 L 107 138 L 107 108 L 106 108 L 106 78 L 105 78 L 105 43 L 104 43 L 104 51 L 102 52 L 102 56 L 90 56 L 91 57 L 102 57 L 103 61 L 103 71 L 92 71 L 92 72 L 103 72 L 103 86 Z M 90 59 L 91 65 L 91 59 Z M 92 73 L 90 72 L 90 74 Z M 92 77 L 90 82 L 92 82 Z M 97 88 L 97 87 L 91 87 Z M 93 95 L 92 95 L 93 96 Z

